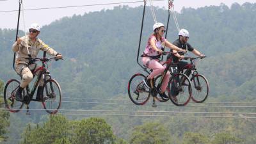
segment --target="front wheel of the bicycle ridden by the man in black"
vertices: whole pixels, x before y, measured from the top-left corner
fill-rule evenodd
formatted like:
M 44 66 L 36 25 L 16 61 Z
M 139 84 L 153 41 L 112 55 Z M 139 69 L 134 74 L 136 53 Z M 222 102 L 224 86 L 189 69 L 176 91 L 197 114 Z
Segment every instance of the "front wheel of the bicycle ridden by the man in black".
M 209 94 L 209 83 L 202 75 L 191 77 L 192 97 L 191 99 L 196 103 L 204 102 Z

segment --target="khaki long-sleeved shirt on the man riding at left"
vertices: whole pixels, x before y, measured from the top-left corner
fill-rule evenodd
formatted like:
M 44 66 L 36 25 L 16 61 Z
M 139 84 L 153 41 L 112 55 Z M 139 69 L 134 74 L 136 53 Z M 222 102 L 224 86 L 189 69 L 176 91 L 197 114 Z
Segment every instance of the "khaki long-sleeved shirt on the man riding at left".
M 54 49 L 49 47 L 49 45 L 44 44 L 44 42 L 42 40 L 40 40 L 39 38 L 36 38 L 35 43 L 31 42 L 28 35 L 23 36 L 21 39 L 22 39 L 21 44 L 17 45 L 17 42 L 15 42 L 12 45 L 13 52 L 17 52 L 16 65 L 18 65 L 20 63 L 24 63 L 24 64 L 28 65 L 28 60 L 25 59 L 25 58 L 29 58 L 28 51 L 31 54 L 32 58 L 36 58 L 36 56 L 40 50 L 45 51 L 45 52 L 47 52 L 47 54 L 50 54 L 52 56 L 56 56 L 56 54 L 58 54 L 58 52 L 54 51 Z M 27 41 L 28 50 L 26 48 L 25 41 Z

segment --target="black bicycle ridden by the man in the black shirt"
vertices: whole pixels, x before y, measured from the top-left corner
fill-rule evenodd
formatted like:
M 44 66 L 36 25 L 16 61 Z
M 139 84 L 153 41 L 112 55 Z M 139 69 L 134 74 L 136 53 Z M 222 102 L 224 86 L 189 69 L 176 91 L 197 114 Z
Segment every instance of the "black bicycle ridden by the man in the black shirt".
M 188 74 L 188 71 L 191 71 L 191 84 L 192 84 L 192 97 L 191 99 L 196 103 L 202 103 L 204 102 L 208 95 L 209 95 L 209 83 L 205 76 L 202 74 L 198 74 L 198 71 L 196 70 L 195 61 L 198 58 L 205 58 L 204 57 L 185 57 L 184 60 L 190 60 L 190 64 L 184 67 L 184 69 L 187 69 L 184 74 Z

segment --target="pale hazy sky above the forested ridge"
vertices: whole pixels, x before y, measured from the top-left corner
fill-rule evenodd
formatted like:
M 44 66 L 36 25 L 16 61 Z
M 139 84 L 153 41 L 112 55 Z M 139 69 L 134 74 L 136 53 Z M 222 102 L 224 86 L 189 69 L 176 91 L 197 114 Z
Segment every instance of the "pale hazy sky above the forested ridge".
M 130 1 L 141 1 L 141 3 L 128 4 L 129 6 L 140 6 L 143 4 L 143 0 L 23 0 L 24 9 L 31 8 L 49 8 L 58 6 L 78 6 L 78 5 L 88 5 L 88 4 L 101 4 L 101 3 L 122 3 Z M 202 6 L 210 5 L 220 5 L 220 3 L 225 3 L 230 6 L 232 3 L 243 4 L 245 2 L 256 3 L 256 0 L 174 0 L 174 6 L 176 11 L 180 11 L 182 7 L 185 8 L 198 8 Z M 154 1 L 154 6 L 166 7 L 168 6 L 168 0 L 165 1 Z M 102 9 L 111 9 L 113 6 L 118 6 L 119 4 L 104 5 L 104 6 L 86 6 L 86 7 L 76 7 L 76 8 L 60 8 L 52 10 L 33 10 L 24 12 L 24 20 L 22 15 L 20 15 L 20 29 L 31 24 L 31 22 L 38 22 L 40 25 L 50 24 L 56 19 L 60 19 L 65 16 L 83 15 L 85 12 L 99 11 Z M 125 4 L 127 5 L 127 4 Z M 149 3 L 148 3 L 149 6 Z M 17 15 L 18 12 L 2 12 L 6 10 L 18 10 L 19 0 L 0 0 L 0 28 L 16 28 L 17 27 Z M 142 12 L 141 12 L 142 13 Z M 22 13 L 21 13 L 22 14 Z M 24 23 L 23 23 L 24 21 Z

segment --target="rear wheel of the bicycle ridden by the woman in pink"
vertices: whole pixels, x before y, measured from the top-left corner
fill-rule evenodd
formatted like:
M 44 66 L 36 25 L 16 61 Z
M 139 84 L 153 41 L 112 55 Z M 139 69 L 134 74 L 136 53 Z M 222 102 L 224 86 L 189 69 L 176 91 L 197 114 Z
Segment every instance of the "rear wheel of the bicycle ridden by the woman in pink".
M 145 104 L 150 98 L 150 90 L 143 83 L 143 74 L 134 74 L 128 83 L 128 94 L 132 102 L 136 105 Z

